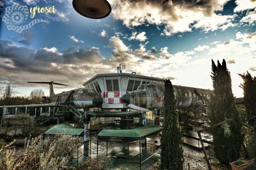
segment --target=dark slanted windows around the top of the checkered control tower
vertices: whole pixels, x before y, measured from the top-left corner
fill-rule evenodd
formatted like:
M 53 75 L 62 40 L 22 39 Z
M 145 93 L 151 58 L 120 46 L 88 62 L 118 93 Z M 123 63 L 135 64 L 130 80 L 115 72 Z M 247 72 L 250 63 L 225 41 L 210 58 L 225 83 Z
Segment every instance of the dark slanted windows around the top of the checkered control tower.
M 140 85 L 139 80 L 129 80 L 128 81 L 128 86 L 127 86 L 127 90 L 126 91 L 133 91 L 133 90 L 137 90 L 137 88 Z M 146 83 L 150 83 L 149 81 L 142 81 L 142 84 L 146 84 Z M 102 92 L 102 90 L 100 89 L 99 83 L 98 81 L 94 81 L 93 83 L 90 83 L 90 85 L 86 85 L 86 88 L 89 89 L 95 89 L 96 92 Z M 119 91 L 119 83 L 117 79 L 113 79 L 113 80 L 106 80 L 106 87 L 107 87 L 107 91 L 108 92 L 115 92 L 115 91 Z

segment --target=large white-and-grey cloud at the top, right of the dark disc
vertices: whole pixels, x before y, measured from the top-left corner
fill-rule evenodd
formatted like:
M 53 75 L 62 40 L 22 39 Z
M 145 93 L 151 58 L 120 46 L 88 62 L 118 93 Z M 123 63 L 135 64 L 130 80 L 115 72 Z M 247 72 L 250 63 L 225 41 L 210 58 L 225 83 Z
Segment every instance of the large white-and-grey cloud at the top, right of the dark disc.
M 189 32 L 193 28 L 204 32 L 227 29 L 232 26 L 232 15 L 216 15 L 214 11 L 222 10 L 228 0 L 205 1 L 197 4 L 193 1 L 115 1 L 113 18 L 122 20 L 126 27 L 138 25 L 165 25 L 161 36 L 171 36 L 177 32 Z M 161 1 L 163 2 L 163 1 Z

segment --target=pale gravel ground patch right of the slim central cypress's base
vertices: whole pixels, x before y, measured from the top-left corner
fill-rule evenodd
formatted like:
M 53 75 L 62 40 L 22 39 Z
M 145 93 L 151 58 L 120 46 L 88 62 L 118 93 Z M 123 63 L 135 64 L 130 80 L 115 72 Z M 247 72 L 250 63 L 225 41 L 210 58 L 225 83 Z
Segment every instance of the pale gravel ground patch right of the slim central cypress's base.
M 208 169 L 203 152 L 198 152 L 186 146 L 183 146 L 183 150 L 185 162 L 186 164 L 189 163 L 190 169 Z

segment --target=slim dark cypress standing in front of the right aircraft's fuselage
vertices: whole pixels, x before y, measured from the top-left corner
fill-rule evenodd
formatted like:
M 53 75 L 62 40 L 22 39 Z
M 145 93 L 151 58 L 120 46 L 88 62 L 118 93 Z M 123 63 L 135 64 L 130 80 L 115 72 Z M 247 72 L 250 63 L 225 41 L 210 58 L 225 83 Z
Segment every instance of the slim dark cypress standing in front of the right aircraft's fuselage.
M 182 134 L 170 80 L 164 82 L 164 122 L 161 136 L 161 169 L 183 168 Z

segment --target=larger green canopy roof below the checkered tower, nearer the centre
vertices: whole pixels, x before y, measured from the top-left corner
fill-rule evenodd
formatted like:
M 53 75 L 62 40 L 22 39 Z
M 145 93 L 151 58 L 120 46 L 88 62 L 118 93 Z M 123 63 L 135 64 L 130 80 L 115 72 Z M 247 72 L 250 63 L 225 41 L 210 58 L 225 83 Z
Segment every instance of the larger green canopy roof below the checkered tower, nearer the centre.
M 104 129 L 99 132 L 100 138 L 114 137 L 114 138 L 143 138 L 154 132 L 159 132 L 162 127 L 159 125 L 147 125 L 137 127 L 134 129 Z

